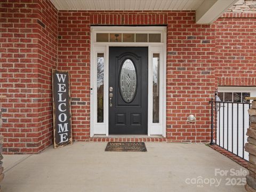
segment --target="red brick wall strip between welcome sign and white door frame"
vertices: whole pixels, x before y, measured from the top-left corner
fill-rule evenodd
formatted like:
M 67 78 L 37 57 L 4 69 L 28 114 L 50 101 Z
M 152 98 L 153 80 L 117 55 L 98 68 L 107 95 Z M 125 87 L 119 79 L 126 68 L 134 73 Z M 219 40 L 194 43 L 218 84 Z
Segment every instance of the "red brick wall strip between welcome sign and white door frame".
M 73 139 L 90 136 L 90 17 L 59 12 L 58 69 L 70 73 Z

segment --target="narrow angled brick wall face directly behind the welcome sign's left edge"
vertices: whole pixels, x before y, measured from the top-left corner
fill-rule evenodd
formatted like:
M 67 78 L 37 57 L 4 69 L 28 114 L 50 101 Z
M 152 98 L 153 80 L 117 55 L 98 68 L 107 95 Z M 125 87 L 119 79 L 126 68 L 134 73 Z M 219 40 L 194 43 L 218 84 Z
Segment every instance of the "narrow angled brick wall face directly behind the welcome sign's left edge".
M 39 151 L 51 145 L 52 120 L 52 69 L 57 68 L 58 13 L 49 0 L 39 1 L 39 19 L 45 28 L 38 31 L 38 113 Z

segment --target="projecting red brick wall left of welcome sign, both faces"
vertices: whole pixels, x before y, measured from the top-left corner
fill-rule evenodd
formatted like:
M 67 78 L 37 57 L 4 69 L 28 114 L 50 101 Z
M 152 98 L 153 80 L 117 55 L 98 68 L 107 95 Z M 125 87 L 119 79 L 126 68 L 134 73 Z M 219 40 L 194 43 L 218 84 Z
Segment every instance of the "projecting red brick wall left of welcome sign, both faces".
M 51 69 L 57 65 L 57 10 L 50 1 L 1 1 L 0 100 L 6 153 L 51 144 Z M 37 20 L 45 27 L 38 24 Z

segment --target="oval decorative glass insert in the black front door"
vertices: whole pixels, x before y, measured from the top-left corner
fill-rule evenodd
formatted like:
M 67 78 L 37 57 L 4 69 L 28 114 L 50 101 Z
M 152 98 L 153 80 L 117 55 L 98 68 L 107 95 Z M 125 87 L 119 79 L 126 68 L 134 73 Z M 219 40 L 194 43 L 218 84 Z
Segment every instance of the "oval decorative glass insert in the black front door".
M 137 88 L 136 69 L 130 59 L 126 59 L 119 76 L 119 89 L 126 103 L 132 102 Z

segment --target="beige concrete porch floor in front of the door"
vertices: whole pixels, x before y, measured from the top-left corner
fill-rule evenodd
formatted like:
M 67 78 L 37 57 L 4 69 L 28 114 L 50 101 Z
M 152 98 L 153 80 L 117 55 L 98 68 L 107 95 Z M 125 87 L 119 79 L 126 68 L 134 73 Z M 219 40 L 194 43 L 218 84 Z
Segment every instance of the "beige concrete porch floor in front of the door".
M 146 143 L 147 153 L 105 152 L 107 142 L 75 142 L 37 155 L 4 155 L 4 192 L 245 191 L 230 169 L 246 170 L 202 144 Z M 228 170 L 226 176 L 215 169 Z M 246 170 L 247 172 L 247 170 Z M 203 184 L 193 184 L 202 177 Z M 241 179 L 239 179 L 241 178 Z M 218 179 L 210 186 L 209 180 Z M 221 180 L 220 180 L 221 179 Z

